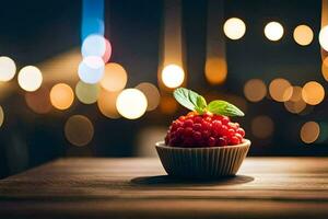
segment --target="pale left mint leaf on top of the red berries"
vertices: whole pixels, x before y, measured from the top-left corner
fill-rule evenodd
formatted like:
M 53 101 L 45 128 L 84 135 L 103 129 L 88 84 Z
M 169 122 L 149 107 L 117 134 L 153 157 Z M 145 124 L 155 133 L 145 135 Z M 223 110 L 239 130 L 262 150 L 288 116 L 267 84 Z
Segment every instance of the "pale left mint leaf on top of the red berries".
M 199 95 L 195 91 L 178 88 L 173 92 L 173 95 L 175 100 L 186 108 L 189 108 L 190 111 L 197 111 L 201 114 L 204 112 L 207 102 L 201 95 Z

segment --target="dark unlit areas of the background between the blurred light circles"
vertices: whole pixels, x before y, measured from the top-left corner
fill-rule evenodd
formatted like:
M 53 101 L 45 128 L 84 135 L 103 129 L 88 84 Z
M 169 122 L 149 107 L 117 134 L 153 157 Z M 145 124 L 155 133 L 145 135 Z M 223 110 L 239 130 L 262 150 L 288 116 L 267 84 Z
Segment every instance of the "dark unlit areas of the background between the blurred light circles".
M 260 78 L 267 85 L 274 78 L 285 78 L 298 85 L 316 80 L 327 88 L 320 73 L 317 39 L 321 1 L 226 0 L 224 18 L 242 19 L 247 31 L 239 41 L 226 39 L 229 74 L 223 85 L 210 85 L 203 73 L 207 3 L 203 0 L 181 1 L 188 88 L 200 93 L 225 93 L 243 99 L 244 83 L 251 78 Z M 126 68 L 127 88 L 142 81 L 157 82 L 163 4 L 161 0 L 105 1 L 105 35 L 113 45 L 110 60 Z M 1 1 L 0 55 L 14 59 L 20 69 L 79 47 L 81 7 L 78 0 Z M 263 26 L 270 21 L 284 26 L 284 36 L 279 42 L 269 42 L 263 36 Z M 293 30 L 300 24 L 307 24 L 314 31 L 315 38 L 309 46 L 302 47 L 293 41 Z M 173 115 L 156 110 L 137 120 L 108 119 L 96 105 L 83 105 L 75 100 L 69 111 L 37 115 L 26 106 L 24 92 L 13 87 L 14 92 L 1 99 L 5 120 L 0 129 L 0 177 L 65 155 L 136 155 L 140 130 L 145 127 L 165 129 L 172 119 L 186 113 L 179 107 Z M 247 138 L 253 140 L 253 155 L 327 155 L 325 141 L 304 145 L 300 139 L 300 126 L 307 120 L 327 120 L 327 110 L 325 100 L 309 114 L 294 115 L 286 112 L 283 104 L 267 97 L 258 103 L 247 102 L 247 116 L 238 122 L 245 127 Z M 86 115 L 94 124 L 94 138 L 85 148 L 73 147 L 65 138 L 63 124 L 73 114 Z M 257 139 L 250 134 L 250 119 L 259 114 L 269 115 L 274 122 L 270 138 Z

